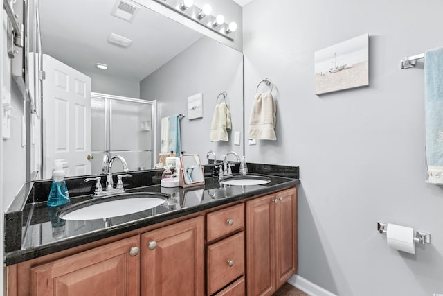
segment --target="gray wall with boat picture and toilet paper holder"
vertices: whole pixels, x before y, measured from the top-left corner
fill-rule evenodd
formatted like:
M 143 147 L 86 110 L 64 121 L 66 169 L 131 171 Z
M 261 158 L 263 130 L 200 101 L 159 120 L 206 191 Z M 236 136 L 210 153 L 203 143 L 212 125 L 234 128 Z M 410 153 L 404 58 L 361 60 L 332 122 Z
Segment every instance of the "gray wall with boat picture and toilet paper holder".
M 443 188 L 426 184 L 424 71 L 443 2 L 254 0 L 244 8 L 246 128 L 257 82 L 278 89 L 278 141 L 252 162 L 300 166 L 299 275 L 337 295 L 443 293 Z M 264 21 L 257 21 L 262 19 Z M 314 95 L 314 51 L 370 35 L 370 87 Z M 432 234 L 404 254 L 377 221 Z

